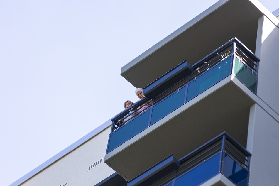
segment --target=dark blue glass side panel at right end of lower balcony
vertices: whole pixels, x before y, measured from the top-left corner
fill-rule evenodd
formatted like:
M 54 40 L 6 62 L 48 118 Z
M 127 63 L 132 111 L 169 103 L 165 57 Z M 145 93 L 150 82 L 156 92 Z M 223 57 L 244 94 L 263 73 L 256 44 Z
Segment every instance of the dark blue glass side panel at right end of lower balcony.
M 225 156 L 223 173 L 238 186 L 248 185 L 248 172 L 228 155 Z

